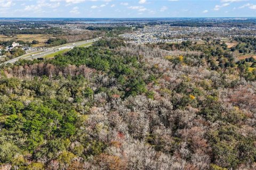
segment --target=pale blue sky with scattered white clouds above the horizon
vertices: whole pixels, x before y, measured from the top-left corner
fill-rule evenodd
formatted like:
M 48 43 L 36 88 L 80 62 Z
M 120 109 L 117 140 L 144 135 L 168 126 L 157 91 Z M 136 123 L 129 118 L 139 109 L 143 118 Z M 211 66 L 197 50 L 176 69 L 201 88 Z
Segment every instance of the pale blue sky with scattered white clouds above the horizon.
M 256 0 L 0 0 L 0 17 L 256 17 Z

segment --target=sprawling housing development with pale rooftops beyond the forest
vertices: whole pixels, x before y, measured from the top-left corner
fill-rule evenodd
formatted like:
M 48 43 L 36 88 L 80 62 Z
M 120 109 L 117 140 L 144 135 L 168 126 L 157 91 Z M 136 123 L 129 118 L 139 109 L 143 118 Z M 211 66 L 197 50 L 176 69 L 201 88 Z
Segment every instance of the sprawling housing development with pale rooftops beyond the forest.
M 160 25 L 149 25 L 140 28 L 131 33 L 124 33 L 120 37 L 124 38 L 127 43 L 134 44 L 145 44 L 145 43 L 179 43 L 182 41 L 201 41 L 202 36 L 205 33 L 215 33 L 219 37 L 236 37 L 236 32 L 238 31 L 255 31 L 256 28 L 253 27 L 177 27 L 170 26 L 170 24 L 160 24 Z M 254 35 L 255 36 L 255 35 Z M 183 38 L 177 38 L 183 37 Z M 191 38 L 189 38 L 191 37 Z

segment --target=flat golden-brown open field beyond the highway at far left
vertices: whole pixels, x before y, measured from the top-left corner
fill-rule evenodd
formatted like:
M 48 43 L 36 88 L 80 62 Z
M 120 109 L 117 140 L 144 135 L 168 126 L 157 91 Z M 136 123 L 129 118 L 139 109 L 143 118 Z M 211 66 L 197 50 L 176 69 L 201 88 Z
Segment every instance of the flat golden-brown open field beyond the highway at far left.
M 43 34 L 35 34 L 35 35 L 17 35 L 14 37 L 7 37 L 4 35 L 0 35 L 0 41 L 7 41 L 7 40 L 22 40 L 22 41 L 29 41 L 32 42 L 33 40 L 38 40 L 39 44 L 35 46 L 44 46 L 45 41 L 47 39 L 53 37 L 52 35 L 43 35 Z

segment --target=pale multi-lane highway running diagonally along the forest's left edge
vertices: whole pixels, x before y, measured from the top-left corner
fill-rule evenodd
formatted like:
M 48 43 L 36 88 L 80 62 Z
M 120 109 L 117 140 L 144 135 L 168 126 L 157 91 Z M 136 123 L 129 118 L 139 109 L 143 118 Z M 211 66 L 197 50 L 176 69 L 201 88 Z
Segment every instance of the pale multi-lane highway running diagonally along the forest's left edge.
M 81 45 L 84 45 L 84 44 L 87 44 L 87 43 L 92 43 L 93 41 L 97 41 L 99 38 L 95 38 L 95 39 L 91 39 L 91 40 L 87 40 L 87 41 L 79 41 L 77 43 L 72 43 L 72 44 L 66 44 L 66 45 L 61 45 L 61 46 L 57 46 L 57 47 L 52 47 L 48 50 L 42 50 L 41 53 L 37 53 L 37 54 L 32 54 L 29 55 L 29 54 L 25 54 L 25 55 L 22 55 L 22 56 L 19 56 L 17 58 L 13 58 L 12 60 L 9 60 L 9 61 L 6 61 L 2 64 L 7 64 L 7 63 L 15 63 L 17 62 L 18 60 L 20 59 L 35 59 L 35 58 L 42 58 L 46 55 L 49 55 L 49 54 L 52 54 L 52 53 L 56 53 L 56 52 L 59 52 L 63 49 L 72 49 L 76 46 L 81 46 Z M 38 51 L 40 52 L 40 51 Z M 0 65 L 2 65 L 0 64 Z

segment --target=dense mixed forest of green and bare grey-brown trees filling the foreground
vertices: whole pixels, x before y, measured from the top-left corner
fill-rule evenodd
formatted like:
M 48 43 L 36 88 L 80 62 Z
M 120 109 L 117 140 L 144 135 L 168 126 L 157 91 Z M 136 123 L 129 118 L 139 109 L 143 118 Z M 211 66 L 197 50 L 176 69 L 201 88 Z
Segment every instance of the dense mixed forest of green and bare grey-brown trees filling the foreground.
M 254 62 L 220 41 L 105 38 L 2 66 L 0 166 L 256 169 Z

